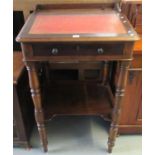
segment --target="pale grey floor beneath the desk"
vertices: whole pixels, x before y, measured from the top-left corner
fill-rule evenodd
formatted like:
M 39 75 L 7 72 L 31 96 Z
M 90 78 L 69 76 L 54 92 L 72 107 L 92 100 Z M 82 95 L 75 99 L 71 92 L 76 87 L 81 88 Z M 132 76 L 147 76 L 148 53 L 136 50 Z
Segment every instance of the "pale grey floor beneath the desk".
M 48 155 L 108 155 L 109 123 L 95 116 L 59 116 L 47 123 Z M 117 137 L 112 155 L 141 155 L 141 135 Z M 14 148 L 14 155 L 44 155 L 35 127 L 32 149 Z

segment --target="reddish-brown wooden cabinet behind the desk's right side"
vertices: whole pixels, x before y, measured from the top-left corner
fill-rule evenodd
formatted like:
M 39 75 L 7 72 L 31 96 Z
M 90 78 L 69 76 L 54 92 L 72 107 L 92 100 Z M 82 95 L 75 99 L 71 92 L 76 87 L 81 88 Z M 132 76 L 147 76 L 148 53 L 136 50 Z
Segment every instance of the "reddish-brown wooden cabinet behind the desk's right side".
M 142 133 L 142 4 L 127 2 L 123 7 L 141 40 L 136 41 L 133 49 L 119 133 Z

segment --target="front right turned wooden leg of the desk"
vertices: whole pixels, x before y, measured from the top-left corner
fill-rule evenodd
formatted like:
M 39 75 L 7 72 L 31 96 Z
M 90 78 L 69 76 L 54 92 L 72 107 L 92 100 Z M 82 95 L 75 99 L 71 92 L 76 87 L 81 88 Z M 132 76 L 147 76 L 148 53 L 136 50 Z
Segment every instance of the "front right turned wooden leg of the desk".
M 116 93 L 115 93 L 115 105 L 112 113 L 112 123 L 109 132 L 108 138 L 108 152 L 112 152 L 112 148 L 115 143 L 115 139 L 117 137 L 118 125 L 120 119 L 121 105 L 122 99 L 125 92 L 125 86 L 127 82 L 127 74 L 128 74 L 129 62 L 121 62 L 119 67 L 119 76 L 116 84 Z

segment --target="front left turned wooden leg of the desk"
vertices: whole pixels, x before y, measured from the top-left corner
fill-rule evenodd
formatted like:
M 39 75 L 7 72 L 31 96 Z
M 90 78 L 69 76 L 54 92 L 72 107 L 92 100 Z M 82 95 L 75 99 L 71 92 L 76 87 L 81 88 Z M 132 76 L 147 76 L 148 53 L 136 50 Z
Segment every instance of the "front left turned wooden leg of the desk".
M 47 136 L 44 126 L 44 115 L 41 104 L 41 95 L 40 95 L 40 86 L 39 80 L 37 76 L 37 71 L 34 62 L 26 63 L 28 76 L 29 76 L 29 84 L 31 89 L 31 95 L 35 108 L 35 119 L 41 139 L 41 143 L 44 149 L 44 152 L 47 152 Z

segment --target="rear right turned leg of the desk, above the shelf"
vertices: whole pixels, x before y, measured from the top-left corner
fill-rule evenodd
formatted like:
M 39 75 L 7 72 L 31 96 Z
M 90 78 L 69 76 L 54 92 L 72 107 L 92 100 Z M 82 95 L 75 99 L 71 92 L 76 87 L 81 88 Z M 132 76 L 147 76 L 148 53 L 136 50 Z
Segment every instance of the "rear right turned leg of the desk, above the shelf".
M 102 69 L 102 85 L 106 85 L 109 76 L 109 61 L 104 61 L 103 69 Z

